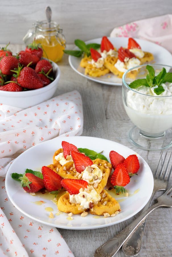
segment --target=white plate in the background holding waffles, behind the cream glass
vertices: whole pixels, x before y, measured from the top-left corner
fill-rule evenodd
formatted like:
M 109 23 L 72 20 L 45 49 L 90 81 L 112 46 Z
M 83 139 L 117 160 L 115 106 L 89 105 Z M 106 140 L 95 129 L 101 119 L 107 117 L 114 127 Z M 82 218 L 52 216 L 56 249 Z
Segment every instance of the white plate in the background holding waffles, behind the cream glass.
M 118 49 L 119 47 L 127 47 L 128 45 L 128 37 L 109 37 L 111 43 Z M 154 55 L 154 63 L 156 64 L 163 64 L 163 65 L 172 65 L 172 55 L 169 51 L 165 48 L 161 47 L 160 45 L 154 44 L 150 41 L 145 41 L 142 39 L 135 39 L 143 51 L 150 52 Z M 92 39 L 85 42 L 86 44 L 89 43 L 101 43 L 101 38 Z M 78 49 L 77 47 L 74 48 L 75 50 Z M 72 69 L 82 75 L 83 77 L 96 81 L 101 84 L 112 85 L 112 86 L 121 86 L 122 79 L 118 78 L 117 76 L 110 73 L 111 77 L 109 78 L 109 74 L 101 77 L 91 77 L 89 75 L 85 75 L 85 69 L 80 67 L 81 57 L 74 57 L 69 56 L 69 64 L 71 65 Z

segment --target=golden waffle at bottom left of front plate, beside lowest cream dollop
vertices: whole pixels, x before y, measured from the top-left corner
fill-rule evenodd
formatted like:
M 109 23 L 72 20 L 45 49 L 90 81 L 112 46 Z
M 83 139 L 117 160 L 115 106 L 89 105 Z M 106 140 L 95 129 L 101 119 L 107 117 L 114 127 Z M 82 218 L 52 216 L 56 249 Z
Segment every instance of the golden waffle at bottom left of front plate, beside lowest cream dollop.
M 59 198 L 57 202 L 57 207 L 59 211 L 66 212 L 66 213 L 72 212 L 73 214 L 80 214 L 86 211 L 86 209 L 80 208 L 80 204 L 74 204 L 69 202 L 69 193 L 63 194 Z

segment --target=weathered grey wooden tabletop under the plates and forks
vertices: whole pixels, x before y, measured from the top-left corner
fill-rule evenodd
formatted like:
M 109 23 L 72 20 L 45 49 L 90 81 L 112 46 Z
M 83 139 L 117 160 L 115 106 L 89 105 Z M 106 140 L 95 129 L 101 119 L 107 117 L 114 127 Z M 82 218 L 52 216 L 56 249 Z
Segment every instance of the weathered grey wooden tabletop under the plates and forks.
M 23 46 L 11 45 L 11 50 L 14 53 L 20 49 L 23 49 Z M 72 49 L 72 46 L 69 49 Z M 63 57 L 58 65 L 61 70 L 61 77 L 55 95 L 72 90 L 80 92 L 84 111 L 84 135 L 105 138 L 128 146 L 140 154 L 154 172 L 160 151 L 141 150 L 128 141 L 128 131 L 133 124 L 123 107 L 121 86 L 103 85 L 80 76 L 69 66 L 67 55 Z M 113 134 L 95 134 L 90 128 L 97 128 L 98 123 L 102 124 L 102 128 L 114 129 L 115 132 Z M 169 148 L 169 151 L 171 151 L 171 148 Z M 172 179 L 169 182 L 170 186 L 171 184 Z M 160 192 L 157 193 L 157 196 L 160 194 Z M 130 218 L 119 224 L 94 230 L 58 230 L 75 257 L 91 257 L 94 255 L 96 248 L 115 236 L 133 219 Z M 138 256 L 170 257 L 172 252 L 171 231 L 172 212 L 170 208 L 158 208 L 151 213 L 147 219 L 142 249 Z M 122 250 L 119 250 L 116 256 L 125 255 Z

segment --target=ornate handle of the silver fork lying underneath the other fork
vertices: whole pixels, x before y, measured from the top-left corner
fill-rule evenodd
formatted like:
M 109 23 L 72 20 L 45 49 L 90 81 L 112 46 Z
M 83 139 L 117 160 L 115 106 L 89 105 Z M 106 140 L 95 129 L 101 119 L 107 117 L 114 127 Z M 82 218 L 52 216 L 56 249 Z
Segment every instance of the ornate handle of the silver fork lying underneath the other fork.
M 142 212 L 147 210 L 149 206 L 151 206 L 152 200 L 155 195 L 155 190 L 152 192 L 152 196 L 148 203 L 144 206 Z M 125 241 L 123 244 L 123 252 L 126 256 L 133 257 L 139 254 L 141 246 L 142 246 L 142 240 L 143 240 L 143 235 L 144 235 L 144 229 L 146 225 L 146 220 L 145 218 L 140 225 L 136 227 L 136 229 L 133 231 L 133 233 L 130 235 L 130 237 Z

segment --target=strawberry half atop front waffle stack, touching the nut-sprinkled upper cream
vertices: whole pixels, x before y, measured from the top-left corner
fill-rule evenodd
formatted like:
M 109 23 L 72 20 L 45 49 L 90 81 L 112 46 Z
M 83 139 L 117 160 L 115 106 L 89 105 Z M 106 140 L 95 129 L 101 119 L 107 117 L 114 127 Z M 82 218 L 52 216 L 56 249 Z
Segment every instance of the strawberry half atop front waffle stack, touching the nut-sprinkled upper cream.
M 86 167 L 93 164 L 92 160 L 80 152 L 71 151 L 71 156 L 77 172 L 81 173 Z

